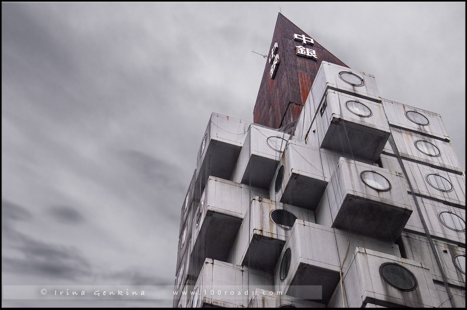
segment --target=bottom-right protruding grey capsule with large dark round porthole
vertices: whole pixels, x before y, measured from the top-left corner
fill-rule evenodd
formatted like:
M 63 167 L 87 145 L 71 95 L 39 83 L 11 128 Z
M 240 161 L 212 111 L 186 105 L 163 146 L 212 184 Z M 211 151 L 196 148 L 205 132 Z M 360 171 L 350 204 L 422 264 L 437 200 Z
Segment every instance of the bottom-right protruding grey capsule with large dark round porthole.
M 349 308 L 365 307 L 367 303 L 432 308 L 436 298 L 430 269 L 421 262 L 359 247 L 343 275 L 343 284 Z

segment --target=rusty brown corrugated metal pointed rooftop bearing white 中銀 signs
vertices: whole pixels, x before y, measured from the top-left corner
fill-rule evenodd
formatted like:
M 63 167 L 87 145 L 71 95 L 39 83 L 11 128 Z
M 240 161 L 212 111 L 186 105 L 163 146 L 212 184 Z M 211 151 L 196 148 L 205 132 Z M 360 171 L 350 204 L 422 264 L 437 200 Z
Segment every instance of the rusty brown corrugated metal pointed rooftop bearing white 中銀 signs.
M 293 40 L 294 34 L 306 34 L 282 14 L 278 14 L 276 28 L 269 47 L 269 54 L 275 42 L 278 43 L 279 67 L 274 79 L 269 77 L 269 54 L 266 60 L 260 89 L 253 110 L 253 121 L 272 128 L 280 128 L 298 118 L 306 101 L 311 85 L 322 61 L 348 67 L 318 42 L 303 45 Z M 314 39 L 313 39 L 314 40 Z M 295 47 L 302 45 L 314 49 L 318 61 L 297 56 Z M 294 104 L 289 104 L 294 103 Z

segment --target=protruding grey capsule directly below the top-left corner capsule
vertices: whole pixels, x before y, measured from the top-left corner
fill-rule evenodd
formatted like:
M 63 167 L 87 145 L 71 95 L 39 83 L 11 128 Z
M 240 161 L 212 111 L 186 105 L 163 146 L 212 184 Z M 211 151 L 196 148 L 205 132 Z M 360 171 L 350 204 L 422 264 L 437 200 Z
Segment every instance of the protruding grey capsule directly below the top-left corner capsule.
M 266 190 L 209 177 L 192 224 L 193 260 L 206 257 L 226 261 L 252 196 L 268 197 Z

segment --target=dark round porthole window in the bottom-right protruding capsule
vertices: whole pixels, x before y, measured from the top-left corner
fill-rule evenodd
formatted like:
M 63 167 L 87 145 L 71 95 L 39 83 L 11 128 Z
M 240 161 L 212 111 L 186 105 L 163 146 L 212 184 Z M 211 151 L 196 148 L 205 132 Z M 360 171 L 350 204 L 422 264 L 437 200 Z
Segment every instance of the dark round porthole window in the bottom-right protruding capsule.
M 382 264 L 380 274 L 384 281 L 396 289 L 410 291 L 417 287 L 417 279 L 415 279 L 415 276 L 409 269 L 394 262 Z

